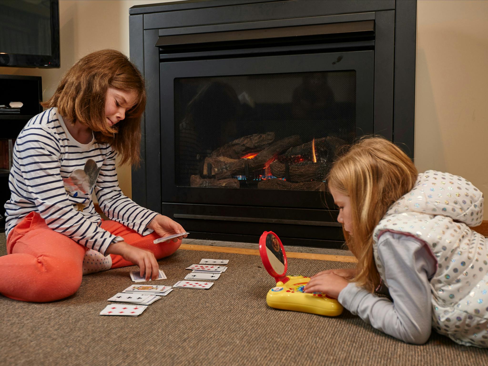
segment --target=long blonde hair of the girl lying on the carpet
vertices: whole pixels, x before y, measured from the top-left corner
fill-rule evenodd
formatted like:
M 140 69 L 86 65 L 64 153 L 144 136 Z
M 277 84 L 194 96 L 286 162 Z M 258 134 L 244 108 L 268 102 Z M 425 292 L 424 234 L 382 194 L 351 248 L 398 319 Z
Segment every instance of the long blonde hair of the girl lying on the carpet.
M 353 236 L 343 231 L 358 260 L 353 281 L 370 292 L 380 284 L 373 257 L 373 230 L 388 208 L 413 188 L 417 174 L 407 154 L 380 137 L 366 137 L 352 145 L 328 174 L 329 189 L 350 198 Z

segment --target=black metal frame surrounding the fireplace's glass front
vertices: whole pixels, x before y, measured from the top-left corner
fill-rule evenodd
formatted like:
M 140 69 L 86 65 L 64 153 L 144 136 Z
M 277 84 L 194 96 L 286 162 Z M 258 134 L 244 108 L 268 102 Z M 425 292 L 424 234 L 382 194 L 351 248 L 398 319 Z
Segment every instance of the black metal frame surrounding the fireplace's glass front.
M 301 196 L 302 199 L 311 196 L 318 201 L 316 204 L 296 202 L 293 204 L 296 208 L 279 208 L 280 204 L 270 207 L 265 195 L 260 193 L 258 195 L 264 198 L 261 207 L 237 203 L 197 204 L 188 199 L 192 197 L 191 194 L 186 197 L 188 203 L 175 203 L 162 194 L 164 188 L 161 154 L 174 155 L 174 152 L 171 152 L 171 146 L 162 144 L 161 139 L 160 101 L 163 96 L 160 94 L 160 61 L 178 60 L 182 57 L 199 59 L 203 56 L 212 59 L 238 58 L 250 53 L 264 52 L 263 47 L 247 47 L 244 51 L 239 51 L 225 47 L 212 48 L 211 45 L 194 52 L 178 52 L 178 47 L 182 44 L 190 43 L 191 46 L 192 38 L 197 35 L 215 34 L 221 38 L 220 41 L 226 41 L 225 37 L 229 34 L 234 34 L 234 37 L 237 35 L 241 39 L 252 38 L 252 35 L 243 35 L 245 31 L 252 29 L 272 30 L 313 24 L 335 24 L 335 29 L 347 22 L 374 21 L 373 42 L 359 36 L 356 43 L 345 42 L 342 49 L 340 40 L 335 40 L 333 47 L 343 51 L 347 51 L 347 47 L 351 45 L 358 50 L 361 47 L 374 47 L 372 132 L 397 143 L 413 158 L 415 0 L 182 1 L 134 6 L 129 13 L 130 58 L 144 75 L 147 89 L 147 104 L 141 126 L 142 163 L 139 169 L 132 170 L 132 197 L 145 207 L 175 218 L 187 230 L 189 228 L 184 223 L 192 223 L 190 231 L 193 238 L 254 242 L 262 231 L 279 228 L 280 237 L 285 244 L 340 247 L 343 241 L 341 229 L 335 223 L 337 211 L 319 209 L 322 203 L 316 193 L 301 192 L 305 194 Z M 176 47 L 160 55 L 159 48 L 155 45 L 164 42 L 169 48 Z M 300 44 L 284 44 L 274 45 L 273 54 L 287 54 L 293 47 L 297 53 L 328 47 L 320 42 L 306 47 Z M 260 56 L 265 55 L 263 53 Z M 202 189 L 204 190 L 200 188 Z M 227 196 L 234 190 L 222 189 L 227 190 Z M 285 193 L 285 196 L 289 193 Z M 203 193 L 196 193 L 197 196 L 199 194 Z M 328 196 L 326 203 L 332 204 Z M 236 210 L 240 214 L 236 214 Z M 219 233 L 209 232 L 212 231 L 208 230 L 209 223 L 222 225 L 225 229 L 219 230 Z M 246 233 L 246 228 L 252 228 L 251 233 Z M 306 235 L 293 237 L 294 232 L 304 231 Z

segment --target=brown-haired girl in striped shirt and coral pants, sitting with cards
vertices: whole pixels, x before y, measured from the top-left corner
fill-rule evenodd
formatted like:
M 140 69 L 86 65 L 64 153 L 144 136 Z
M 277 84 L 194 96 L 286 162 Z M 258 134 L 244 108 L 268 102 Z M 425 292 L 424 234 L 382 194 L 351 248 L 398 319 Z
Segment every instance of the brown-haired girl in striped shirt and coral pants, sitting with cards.
M 17 138 L 5 203 L 7 255 L 0 293 L 47 302 L 74 294 L 83 274 L 137 264 L 158 278 L 181 240 L 153 244 L 183 227 L 139 206 L 119 188 L 115 160 L 139 163 L 144 81 L 121 52 L 76 62 Z M 92 192 L 110 221 L 95 211 Z M 186 236 L 185 236 L 186 237 Z

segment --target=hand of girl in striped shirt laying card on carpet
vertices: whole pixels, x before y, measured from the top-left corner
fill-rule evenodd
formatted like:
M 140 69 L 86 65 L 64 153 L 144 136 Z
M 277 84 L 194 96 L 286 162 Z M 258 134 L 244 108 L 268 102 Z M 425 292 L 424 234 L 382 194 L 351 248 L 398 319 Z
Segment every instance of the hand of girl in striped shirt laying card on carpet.
M 117 254 L 128 262 L 137 264 L 141 269 L 140 275 L 146 281 L 156 280 L 159 276 L 159 265 L 154 254 L 148 250 L 137 248 L 125 242 L 110 244 L 105 254 Z

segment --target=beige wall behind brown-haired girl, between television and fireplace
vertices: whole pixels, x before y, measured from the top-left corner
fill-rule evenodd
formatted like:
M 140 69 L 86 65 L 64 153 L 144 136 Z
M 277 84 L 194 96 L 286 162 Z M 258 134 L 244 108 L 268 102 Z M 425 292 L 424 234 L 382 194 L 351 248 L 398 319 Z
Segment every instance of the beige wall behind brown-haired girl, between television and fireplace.
M 42 99 L 49 99 L 61 75 L 75 61 L 103 48 L 114 48 L 129 55 L 129 8 L 134 5 L 171 0 L 61 0 L 59 69 L 0 67 L 0 74 L 42 77 Z M 118 166 L 122 191 L 132 197 L 130 166 Z

